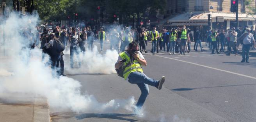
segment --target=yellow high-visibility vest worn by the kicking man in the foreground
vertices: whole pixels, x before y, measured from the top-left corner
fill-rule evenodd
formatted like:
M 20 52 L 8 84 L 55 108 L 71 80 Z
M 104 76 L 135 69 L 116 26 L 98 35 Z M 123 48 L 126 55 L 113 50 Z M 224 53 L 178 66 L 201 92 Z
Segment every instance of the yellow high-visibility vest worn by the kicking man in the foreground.
M 120 53 L 119 55 L 123 60 L 126 59 L 126 62 L 124 62 L 124 66 L 126 67 L 124 68 L 124 72 L 123 72 L 123 76 L 125 80 L 129 76 L 129 74 L 132 72 L 137 71 L 137 72 L 143 73 L 143 69 L 137 59 L 134 59 L 133 62 L 131 62 L 130 55 L 126 51 Z

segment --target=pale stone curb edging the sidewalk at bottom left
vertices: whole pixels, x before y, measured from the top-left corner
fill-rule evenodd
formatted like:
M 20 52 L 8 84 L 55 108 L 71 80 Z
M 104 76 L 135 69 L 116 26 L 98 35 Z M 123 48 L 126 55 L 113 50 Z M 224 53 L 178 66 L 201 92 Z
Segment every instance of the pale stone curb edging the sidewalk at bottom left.
M 46 98 L 35 98 L 33 122 L 50 122 L 50 110 Z

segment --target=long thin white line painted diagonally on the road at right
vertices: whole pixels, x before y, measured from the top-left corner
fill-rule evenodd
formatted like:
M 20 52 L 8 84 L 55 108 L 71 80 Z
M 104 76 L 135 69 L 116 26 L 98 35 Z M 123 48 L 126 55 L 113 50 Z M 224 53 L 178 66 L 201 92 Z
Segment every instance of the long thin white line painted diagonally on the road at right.
M 188 64 L 194 64 L 194 65 L 198 65 L 198 66 L 201 66 L 201 67 L 206 67 L 206 68 L 209 68 L 209 69 L 214 69 L 214 70 L 219 70 L 219 71 L 222 71 L 222 72 L 227 72 L 227 73 L 230 73 L 230 74 L 235 74 L 235 75 L 238 75 L 238 76 L 248 77 L 248 78 L 251 78 L 251 79 L 256 79 L 256 77 L 247 76 L 247 75 L 239 74 L 239 73 L 236 73 L 236 72 L 231 72 L 231 71 L 228 71 L 228 70 L 218 69 L 218 68 L 209 67 L 209 66 L 206 66 L 206 65 L 196 64 L 196 63 L 187 62 L 187 61 L 179 60 L 179 59 L 175 59 L 175 58 L 164 57 L 164 56 L 160 56 L 160 55 L 155 55 L 155 56 L 162 57 L 162 58 L 168 58 L 168 59 L 172 59 L 172 60 L 176 60 L 176 61 L 180 61 L 180 62 L 185 62 L 185 63 L 188 63 Z

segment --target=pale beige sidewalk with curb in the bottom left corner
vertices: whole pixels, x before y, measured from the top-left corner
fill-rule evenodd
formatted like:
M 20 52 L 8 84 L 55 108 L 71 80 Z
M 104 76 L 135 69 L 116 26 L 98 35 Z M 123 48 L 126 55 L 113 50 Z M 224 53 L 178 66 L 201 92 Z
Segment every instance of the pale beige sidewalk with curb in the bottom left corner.
M 46 98 L 0 98 L 1 122 L 50 122 Z

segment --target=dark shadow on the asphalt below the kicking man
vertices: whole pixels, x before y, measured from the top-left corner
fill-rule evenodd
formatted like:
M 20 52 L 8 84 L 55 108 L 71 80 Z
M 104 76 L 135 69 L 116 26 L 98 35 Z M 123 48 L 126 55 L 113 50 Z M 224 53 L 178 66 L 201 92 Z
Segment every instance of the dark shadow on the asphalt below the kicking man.
M 84 113 L 82 115 L 76 116 L 76 119 L 82 120 L 85 118 L 108 118 L 108 119 L 117 119 L 117 120 L 126 120 L 130 122 L 135 122 L 138 120 L 127 119 L 124 117 L 134 117 L 134 114 L 120 114 L 120 113 Z

